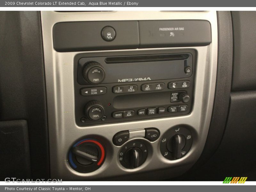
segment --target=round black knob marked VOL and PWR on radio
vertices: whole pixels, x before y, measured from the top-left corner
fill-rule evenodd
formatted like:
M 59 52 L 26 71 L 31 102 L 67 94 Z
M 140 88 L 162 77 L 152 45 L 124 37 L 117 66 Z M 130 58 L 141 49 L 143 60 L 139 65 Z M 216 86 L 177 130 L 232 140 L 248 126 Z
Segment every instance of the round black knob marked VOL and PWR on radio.
M 105 71 L 100 63 L 91 61 L 86 63 L 83 69 L 83 77 L 88 83 L 99 84 L 105 78 Z

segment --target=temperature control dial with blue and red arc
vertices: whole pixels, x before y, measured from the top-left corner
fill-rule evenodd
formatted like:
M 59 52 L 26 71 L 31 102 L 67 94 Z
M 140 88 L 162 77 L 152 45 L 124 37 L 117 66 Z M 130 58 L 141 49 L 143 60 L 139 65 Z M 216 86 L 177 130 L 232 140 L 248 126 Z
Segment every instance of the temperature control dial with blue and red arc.
M 68 162 L 77 172 L 92 172 L 103 164 L 105 154 L 105 148 L 100 141 L 84 139 L 76 142 L 71 147 Z

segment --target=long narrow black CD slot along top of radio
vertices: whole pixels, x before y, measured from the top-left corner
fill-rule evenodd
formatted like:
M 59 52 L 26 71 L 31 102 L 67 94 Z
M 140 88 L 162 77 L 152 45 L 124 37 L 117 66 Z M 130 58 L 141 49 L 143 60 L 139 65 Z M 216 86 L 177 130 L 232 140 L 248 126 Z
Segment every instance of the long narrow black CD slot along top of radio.
M 113 63 L 133 63 L 133 62 L 148 62 L 148 61 L 168 61 L 168 60 L 186 60 L 188 54 L 164 54 L 164 55 L 138 55 L 138 56 L 122 56 L 122 57 L 107 57 L 107 64 Z

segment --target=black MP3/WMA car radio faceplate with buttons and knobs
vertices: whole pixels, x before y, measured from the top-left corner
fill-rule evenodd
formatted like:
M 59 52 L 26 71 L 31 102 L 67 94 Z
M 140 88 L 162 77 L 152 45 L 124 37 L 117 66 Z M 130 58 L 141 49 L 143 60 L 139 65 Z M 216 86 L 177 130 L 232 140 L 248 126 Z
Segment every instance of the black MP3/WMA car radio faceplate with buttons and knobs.
M 86 126 L 189 114 L 195 63 L 193 49 L 76 55 L 76 124 Z

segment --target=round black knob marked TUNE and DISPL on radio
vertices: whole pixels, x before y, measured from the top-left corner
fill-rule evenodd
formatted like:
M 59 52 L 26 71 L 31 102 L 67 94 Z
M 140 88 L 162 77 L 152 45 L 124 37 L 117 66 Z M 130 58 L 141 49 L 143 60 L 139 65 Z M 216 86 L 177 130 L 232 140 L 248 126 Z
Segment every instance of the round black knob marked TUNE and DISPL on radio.
M 90 101 L 84 107 L 84 115 L 92 121 L 97 121 L 103 117 L 104 108 L 99 101 Z

